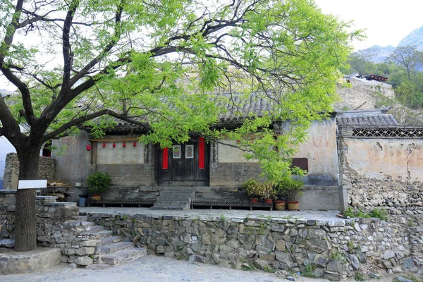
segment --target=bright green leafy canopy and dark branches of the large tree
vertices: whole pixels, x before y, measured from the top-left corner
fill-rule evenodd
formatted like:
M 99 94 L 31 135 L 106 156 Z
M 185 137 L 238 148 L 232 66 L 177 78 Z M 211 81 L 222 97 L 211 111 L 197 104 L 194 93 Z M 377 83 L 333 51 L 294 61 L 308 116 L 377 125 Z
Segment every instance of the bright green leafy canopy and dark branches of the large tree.
M 0 71 L 19 95 L 0 99 L 0 134 L 27 179 L 39 147 L 80 123 L 96 135 L 116 119 L 134 123 L 162 147 L 192 133 L 243 140 L 259 130 L 262 138 L 240 146 L 277 180 L 309 123 L 331 111 L 338 68 L 360 37 L 346 27 L 310 0 L 4 0 Z M 211 126 L 227 111 L 243 116 L 252 92 L 268 112 L 236 130 Z M 275 120 L 291 122 L 276 139 Z

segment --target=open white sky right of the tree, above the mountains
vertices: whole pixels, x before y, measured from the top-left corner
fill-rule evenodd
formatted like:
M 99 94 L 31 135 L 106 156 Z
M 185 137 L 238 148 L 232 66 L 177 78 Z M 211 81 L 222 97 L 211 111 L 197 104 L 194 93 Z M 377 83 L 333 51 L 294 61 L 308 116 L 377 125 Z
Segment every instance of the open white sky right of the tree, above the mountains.
M 397 47 L 412 30 L 423 26 L 422 0 L 314 0 L 323 13 L 344 21 L 354 20 L 355 29 L 367 29 L 367 39 L 353 42 L 355 51 L 373 45 Z

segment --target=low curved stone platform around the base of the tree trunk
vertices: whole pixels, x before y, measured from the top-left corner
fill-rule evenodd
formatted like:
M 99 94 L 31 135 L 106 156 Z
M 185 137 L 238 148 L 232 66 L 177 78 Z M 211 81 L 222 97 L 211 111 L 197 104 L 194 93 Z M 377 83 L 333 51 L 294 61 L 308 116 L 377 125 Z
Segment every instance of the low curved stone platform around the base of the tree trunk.
M 0 274 L 27 274 L 60 263 L 60 249 L 39 247 L 30 252 L 0 248 Z M 0 278 L 0 281 L 2 279 Z

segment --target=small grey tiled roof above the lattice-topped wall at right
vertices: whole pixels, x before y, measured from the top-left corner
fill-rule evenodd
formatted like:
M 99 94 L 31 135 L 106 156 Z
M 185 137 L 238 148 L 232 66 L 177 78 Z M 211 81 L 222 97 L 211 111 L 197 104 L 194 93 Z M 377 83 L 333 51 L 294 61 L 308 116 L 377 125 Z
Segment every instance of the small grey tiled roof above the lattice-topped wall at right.
M 399 125 L 391 114 L 361 114 L 357 116 L 340 116 L 336 118 L 336 123 L 343 126 L 360 125 Z

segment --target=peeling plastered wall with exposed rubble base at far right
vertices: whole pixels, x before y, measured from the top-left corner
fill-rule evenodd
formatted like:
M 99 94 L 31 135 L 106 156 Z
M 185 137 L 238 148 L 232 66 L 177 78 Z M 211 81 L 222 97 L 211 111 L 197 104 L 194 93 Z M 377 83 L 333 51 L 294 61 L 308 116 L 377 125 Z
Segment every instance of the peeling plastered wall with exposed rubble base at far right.
M 422 154 L 422 138 L 341 137 L 343 188 L 350 207 L 423 214 Z

